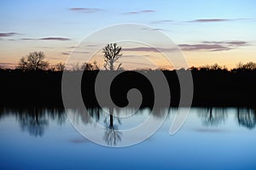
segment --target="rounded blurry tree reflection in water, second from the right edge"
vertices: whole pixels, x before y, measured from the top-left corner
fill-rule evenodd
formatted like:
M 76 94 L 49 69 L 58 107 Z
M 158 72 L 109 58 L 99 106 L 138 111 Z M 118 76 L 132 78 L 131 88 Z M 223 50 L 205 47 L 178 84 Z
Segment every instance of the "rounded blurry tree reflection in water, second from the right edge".
M 221 123 L 224 123 L 227 114 L 224 108 L 207 108 L 202 112 L 198 113 L 198 116 L 202 118 L 203 124 L 207 126 L 217 126 Z

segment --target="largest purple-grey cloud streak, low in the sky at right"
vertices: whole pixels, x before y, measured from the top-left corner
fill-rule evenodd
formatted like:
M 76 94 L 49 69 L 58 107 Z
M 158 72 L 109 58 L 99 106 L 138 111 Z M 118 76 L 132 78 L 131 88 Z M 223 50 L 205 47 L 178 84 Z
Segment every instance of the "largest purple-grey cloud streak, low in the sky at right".
M 234 48 L 239 48 L 241 46 L 249 45 L 248 42 L 244 41 L 220 41 L 220 42 L 201 42 L 197 44 L 179 44 L 178 46 L 183 51 L 226 51 Z

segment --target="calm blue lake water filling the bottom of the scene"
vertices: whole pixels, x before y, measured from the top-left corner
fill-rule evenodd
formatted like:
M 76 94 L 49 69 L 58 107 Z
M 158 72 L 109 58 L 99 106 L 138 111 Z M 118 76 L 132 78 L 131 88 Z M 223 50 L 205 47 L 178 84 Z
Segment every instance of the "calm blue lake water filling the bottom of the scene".
M 72 123 L 100 123 L 106 127 L 102 142 L 121 144 L 125 134 L 108 138 L 108 128 L 137 126 L 148 116 L 147 108 L 129 120 L 113 117 L 112 123 L 97 108 L 90 110 L 94 121 L 83 111 L 68 110 L 72 123 L 62 109 L 2 108 L 0 169 L 256 169 L 255 110 L 192 108 L 183 127 L 170 135 L 175 111 L 154 113 L 156 121 L 167 114 L 166 121 L 142 143 L 113 148 L 85 139 Z

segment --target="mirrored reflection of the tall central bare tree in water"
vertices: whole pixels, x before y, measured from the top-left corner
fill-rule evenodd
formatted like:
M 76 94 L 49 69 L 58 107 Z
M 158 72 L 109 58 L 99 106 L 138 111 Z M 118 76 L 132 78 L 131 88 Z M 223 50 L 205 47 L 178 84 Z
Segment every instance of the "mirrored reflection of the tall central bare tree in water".
M 118 127 L 116 125 L 113 125 L 113 108 L 109 108 L 109 122 L 107 119 L 105 119 L 105 125 L 106 125 L 106 132 L 103 136 L 103 139 L 108 145 L 115 145 L 117 142 L 121 141 L 121 135 L 118 131 Z

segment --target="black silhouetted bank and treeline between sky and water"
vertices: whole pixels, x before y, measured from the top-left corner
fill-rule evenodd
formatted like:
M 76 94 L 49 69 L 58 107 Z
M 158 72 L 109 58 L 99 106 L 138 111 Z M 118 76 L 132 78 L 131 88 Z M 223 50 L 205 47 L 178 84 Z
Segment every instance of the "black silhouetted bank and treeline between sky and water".
M 79 71 L 67 71 L 67 74 L 76 76 Z M 180 86 L 177 72 L 182 75 L 186 71 L 191 71 L 193 77 L 194 106 L 256 105 L 256 64 L 253 62 L 239 64 L 230 71 L 217 64 L 191 67 L 189 70 L 162 71 L 172 95 L 168 105 L 179 104 Z M 142 106 L 154 105 L 154 89 L 147 76 L 159 72 L 160 70 L 122 72 L 114 78 L 111 85 L 113 102 L 119 106 L 127 105 L 127 92 L 131 88 L 137 88 L 143 94 Z M 88 106 L 98 105 L 95 95 L 97 73 L 98 70 L 85 70 L 81 81 L 84 104 Z M 103 73 L 108 77 L 113 71 Z M 61 77 L 62 70 L 0 69 L 0 105 L 62 105 Z

